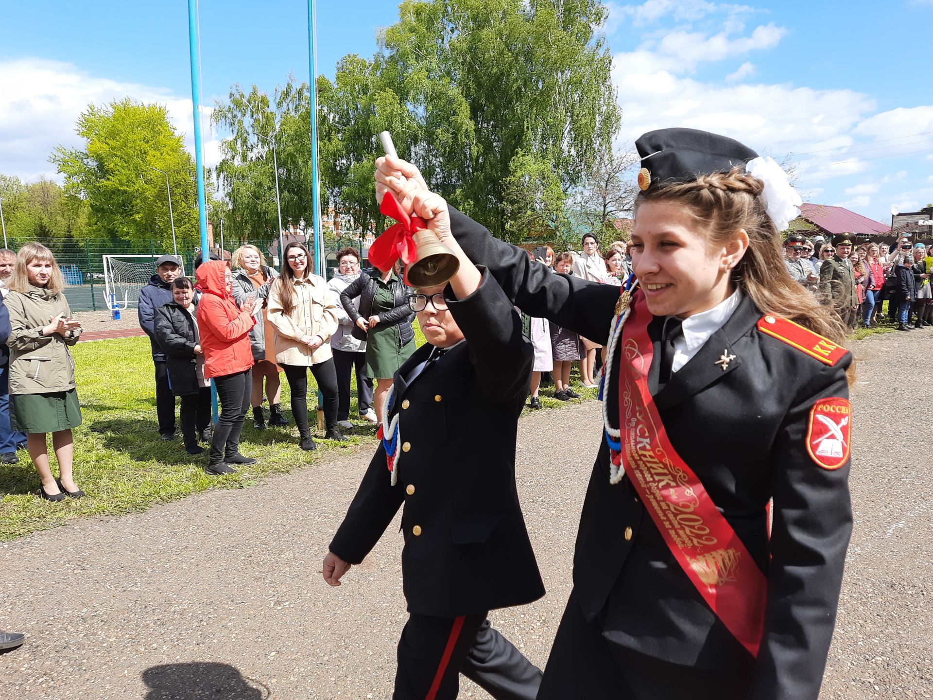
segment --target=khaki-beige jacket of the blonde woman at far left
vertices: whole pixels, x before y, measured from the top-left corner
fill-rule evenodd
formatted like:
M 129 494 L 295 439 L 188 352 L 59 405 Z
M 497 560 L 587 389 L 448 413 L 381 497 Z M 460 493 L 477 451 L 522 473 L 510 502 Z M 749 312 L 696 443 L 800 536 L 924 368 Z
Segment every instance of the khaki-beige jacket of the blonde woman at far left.
M 77 343 L 81 329 L 70 338 L 58 333 L 42 335 L 49 317 L 71 315 L 64 294 L 49 294 L 33 287 L 25 294 L 11 291 L 6 298 L 10 334 L 9 393 L 46 394 L 75 388 L 75 362 L 69 345 Z

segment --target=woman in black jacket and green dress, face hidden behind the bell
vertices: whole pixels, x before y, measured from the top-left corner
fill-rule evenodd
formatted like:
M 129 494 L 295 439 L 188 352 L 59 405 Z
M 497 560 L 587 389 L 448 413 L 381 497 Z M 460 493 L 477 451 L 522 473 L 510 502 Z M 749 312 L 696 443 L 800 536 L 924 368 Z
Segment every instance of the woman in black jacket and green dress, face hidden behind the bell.
M 360 297 L 357 311 L 354 300 Z M 376 380 L 372 407 L 376 418 L 383 420 L 385 395 L 392 378 L 405 360 L 414 353 L 414 329 L 405 285 L 399 277 L 398 263 L 391 270 L 359 275 L 343 291 L 341 304 L 354 323 L 353 337 L 366 341 L 366 375 Z

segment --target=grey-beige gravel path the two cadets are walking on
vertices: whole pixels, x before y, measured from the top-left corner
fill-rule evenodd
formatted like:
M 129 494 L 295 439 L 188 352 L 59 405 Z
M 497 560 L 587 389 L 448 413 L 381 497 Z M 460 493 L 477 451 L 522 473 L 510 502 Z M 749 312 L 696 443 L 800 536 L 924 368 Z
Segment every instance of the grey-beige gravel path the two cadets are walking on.
M 916 397 L 933 343 L 912 331 L 854 346 L 856 527 L 821 698 L 931 697 L 933 486 Z M 538 665 L 570 591 L 599 416 L 591 401 L 522 420 L 520 493 L 548 595 L 493 620 Z M 0 655 L 0 697 L 389 697 L 406 617 L 397 525 L 339 589 L 319 574 L 367 452 L 4 544 L 0 629 L 28 638 Z M 461 697 L 488 696 L 465 681 Z

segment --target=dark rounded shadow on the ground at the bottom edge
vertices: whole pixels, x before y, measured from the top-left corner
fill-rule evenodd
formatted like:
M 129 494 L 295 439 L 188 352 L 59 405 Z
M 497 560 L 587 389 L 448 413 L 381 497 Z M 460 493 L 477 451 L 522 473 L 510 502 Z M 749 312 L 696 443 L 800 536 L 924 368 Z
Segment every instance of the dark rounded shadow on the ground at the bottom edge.
M 193 662 L 150 666 L 143 671 L 145 700 L 269 700 L 272 693 L 258 680 L 244 678 L 229 664 Z

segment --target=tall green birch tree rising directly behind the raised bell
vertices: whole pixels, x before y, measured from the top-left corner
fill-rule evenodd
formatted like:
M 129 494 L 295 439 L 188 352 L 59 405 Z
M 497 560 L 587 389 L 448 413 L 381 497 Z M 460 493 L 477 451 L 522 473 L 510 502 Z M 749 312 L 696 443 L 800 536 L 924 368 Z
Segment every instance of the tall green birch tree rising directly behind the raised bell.
M 596 29 L 606 7 L 405 0 L 399 16 L 380 57 L 382 91 L 397 100 L 376 105 L 377 124 L 396 123 L 399 152 L 495 235 L 520 240 L 534 232 L 526 225 L 555 221 L 555 185 L 564 196 L 578 186 L 619 125 L 612 57 Z

